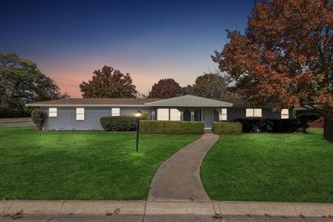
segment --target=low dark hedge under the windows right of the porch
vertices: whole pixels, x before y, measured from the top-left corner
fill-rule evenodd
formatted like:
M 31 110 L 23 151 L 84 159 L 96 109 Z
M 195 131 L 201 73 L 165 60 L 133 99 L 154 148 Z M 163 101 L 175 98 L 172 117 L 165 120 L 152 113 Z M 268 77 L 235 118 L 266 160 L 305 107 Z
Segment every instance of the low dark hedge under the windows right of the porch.
M 235 119 L 242 124 L 242 133 L 306 133 L 305 119 Z

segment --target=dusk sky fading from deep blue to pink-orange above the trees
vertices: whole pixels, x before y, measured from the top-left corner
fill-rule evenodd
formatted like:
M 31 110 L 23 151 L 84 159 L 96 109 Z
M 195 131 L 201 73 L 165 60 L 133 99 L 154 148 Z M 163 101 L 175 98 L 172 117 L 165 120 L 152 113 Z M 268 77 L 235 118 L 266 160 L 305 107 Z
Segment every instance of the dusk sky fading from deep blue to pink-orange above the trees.
M 36 62 L 71 97 L 103 65 L 130 73 L 147 94 L 160 78 L 185 86 L 214 69 L 225 29 L 244 31 L 252 8 L 252 0 L 5 0 L 0 52 Z

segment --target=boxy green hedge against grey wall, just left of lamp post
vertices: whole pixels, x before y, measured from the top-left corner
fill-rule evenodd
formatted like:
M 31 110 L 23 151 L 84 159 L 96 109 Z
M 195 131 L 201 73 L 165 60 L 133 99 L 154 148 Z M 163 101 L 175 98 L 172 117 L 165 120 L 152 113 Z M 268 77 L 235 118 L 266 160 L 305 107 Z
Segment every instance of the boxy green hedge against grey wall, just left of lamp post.
M 139 119 L 147 119 L 148 114 L 142 114 Z M 106 131 L 135 131 L 137 124 L 135 120 L 137 117 L 102 117 L 100 119 L 101 126 Z

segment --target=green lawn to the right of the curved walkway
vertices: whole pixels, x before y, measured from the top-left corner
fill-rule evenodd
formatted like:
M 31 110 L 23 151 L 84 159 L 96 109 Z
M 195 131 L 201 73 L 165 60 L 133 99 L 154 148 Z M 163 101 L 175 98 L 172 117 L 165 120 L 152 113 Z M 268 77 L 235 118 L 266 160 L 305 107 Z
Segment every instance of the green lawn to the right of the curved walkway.
M 214 200 L 333 203 L 333 144 L 306 134 L 223 135 L 201 166 Z

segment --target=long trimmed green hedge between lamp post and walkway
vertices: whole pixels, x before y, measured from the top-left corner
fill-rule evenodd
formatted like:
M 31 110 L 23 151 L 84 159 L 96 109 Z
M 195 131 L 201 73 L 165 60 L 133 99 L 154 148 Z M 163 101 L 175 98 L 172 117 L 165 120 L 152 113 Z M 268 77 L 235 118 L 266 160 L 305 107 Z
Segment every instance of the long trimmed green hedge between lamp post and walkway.
M 140 121 L 140 133 L 146 134 L 203 134 L 205 123 L 188 121 Z

